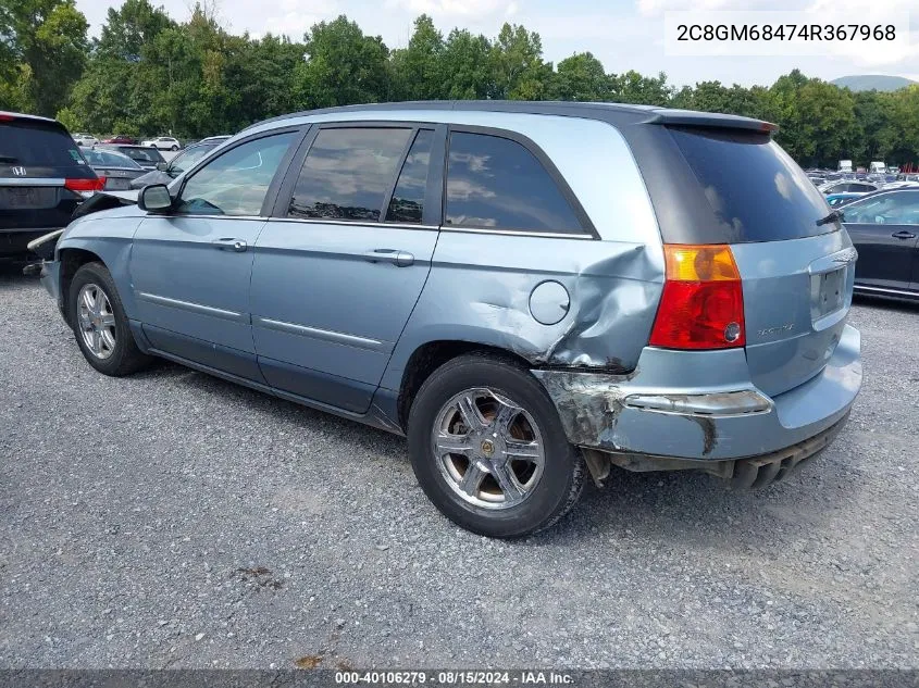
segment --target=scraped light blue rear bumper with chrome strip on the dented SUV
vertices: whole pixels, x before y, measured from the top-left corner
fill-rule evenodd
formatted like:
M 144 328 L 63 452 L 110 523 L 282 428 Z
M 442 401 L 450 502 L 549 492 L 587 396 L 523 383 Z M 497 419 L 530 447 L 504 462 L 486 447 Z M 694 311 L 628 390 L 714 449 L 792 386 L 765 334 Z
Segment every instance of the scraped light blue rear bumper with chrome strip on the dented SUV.
M 825 447 L 829 442 L 808 440 L 832 439 L 845 423 L 861 388 L 860 349 L 858 330 L 847 325 L 818 375 L 772 398 L 750 383 L 743 349 L 647 347 L 630 375 L 533 374 L 552 398 L 573 445 L 625 456 L 616 463 L 633 470 L 648 470 L 637 467 L 647 458 L 651 470 L 701 467 L 732 477 L 726 466 L 701 463 L 785 455 L 798 446 L 797 463 L 810 449 Z M 685 461 L 668 465 L 673 459 Z

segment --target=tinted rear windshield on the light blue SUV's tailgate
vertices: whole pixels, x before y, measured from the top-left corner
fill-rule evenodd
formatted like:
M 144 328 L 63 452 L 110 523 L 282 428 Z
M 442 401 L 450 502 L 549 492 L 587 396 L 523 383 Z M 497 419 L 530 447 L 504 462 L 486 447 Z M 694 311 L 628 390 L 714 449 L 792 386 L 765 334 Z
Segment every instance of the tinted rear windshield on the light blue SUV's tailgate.
M 829 212 L 823 195 L 768 135 L 670 132 L 705 189 L 724 243 L 799 239 L 837 228 L 817 224 Z

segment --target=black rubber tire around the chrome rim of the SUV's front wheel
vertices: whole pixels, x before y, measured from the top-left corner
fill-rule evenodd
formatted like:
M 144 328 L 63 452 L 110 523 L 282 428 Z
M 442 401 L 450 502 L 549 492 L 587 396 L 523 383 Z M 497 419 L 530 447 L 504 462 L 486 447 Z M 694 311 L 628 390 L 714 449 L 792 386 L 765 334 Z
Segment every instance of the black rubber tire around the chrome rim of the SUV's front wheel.
M 114 346 L 109 349 L 105 358 L 94 353 L 83 335 L 78 299 L 80 290 L 87 285 L 95 285 L 102 290 L 111 305 L 111 315 L 114 316 Z M 152 359 L 142 353 L 134 341 L 115 283 L 102 263 L 87 263 L 76 271 L 67 292 L 67 318 L 84 358 L 100 373 L 121 377 L 136 373 L 151 363 Z

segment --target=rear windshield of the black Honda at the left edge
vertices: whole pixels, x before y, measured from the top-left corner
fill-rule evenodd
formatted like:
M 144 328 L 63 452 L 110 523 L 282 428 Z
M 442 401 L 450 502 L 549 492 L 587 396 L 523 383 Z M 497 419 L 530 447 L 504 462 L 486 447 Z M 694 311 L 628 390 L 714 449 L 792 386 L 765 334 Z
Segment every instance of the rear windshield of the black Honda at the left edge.
M 58 126 L 41 122 L 0 122 L 0 170 L 86 166 L 74 140 Z

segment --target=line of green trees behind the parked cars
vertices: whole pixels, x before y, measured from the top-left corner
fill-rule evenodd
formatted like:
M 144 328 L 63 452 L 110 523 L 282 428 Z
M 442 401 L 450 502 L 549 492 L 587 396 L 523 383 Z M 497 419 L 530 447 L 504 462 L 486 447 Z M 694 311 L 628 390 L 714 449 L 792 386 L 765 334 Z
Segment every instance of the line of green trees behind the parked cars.
M 919 86 L 853 92 L 795 70 L 769 87 L 675 88 L 663 73 L 609 73 L 589 52 L 546 62 L 539 35 L 522 25 L 494 38 L 444 35 L 421 15 L 408 46 L 390 49 L 344 15 L 301 41 L 236 36 L 207 2 L 176 22 L 149 0 L 125 0 L 90 39 L 74 0 L 0 0 L 0 110 L 57 116 L 72 130 L 199 138 L 287 112 L 427 99 L 728 112 L 779 124 L 778 140 L 804 166 L 919 160 Z

